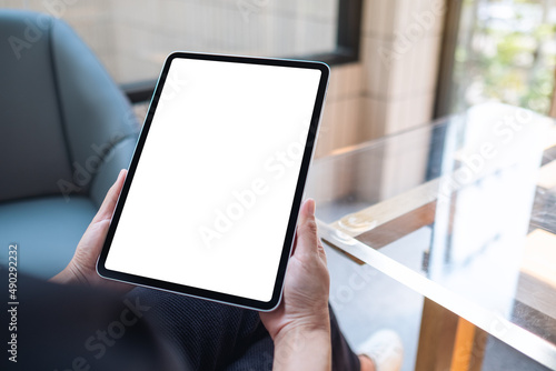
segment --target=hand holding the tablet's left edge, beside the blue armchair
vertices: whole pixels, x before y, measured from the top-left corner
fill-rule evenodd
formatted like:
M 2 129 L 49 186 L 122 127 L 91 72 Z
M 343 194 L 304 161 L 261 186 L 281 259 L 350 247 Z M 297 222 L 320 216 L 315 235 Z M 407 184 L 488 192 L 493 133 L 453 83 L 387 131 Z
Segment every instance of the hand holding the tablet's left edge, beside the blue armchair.
M 101 278 L 97 273 L 97 260 L 102 244 L 105 243 L 110 227 L 110 220 L 120 195 L 123 180 L 126 179 L 127 170 L 121 170 L 116 183 L 108 190 L 105 201 L 100 205 L 99 211 L 92 219 L 92 222 L 87 228 L 81 241 L 76 249 L 73 258 L 69 264 L 57 275 L 50 279 L 57 283 L 81 283 L 95 287 L 103 287 L 118 291 L 129 291 L 132 285 L 117 281 L 110 281 Z

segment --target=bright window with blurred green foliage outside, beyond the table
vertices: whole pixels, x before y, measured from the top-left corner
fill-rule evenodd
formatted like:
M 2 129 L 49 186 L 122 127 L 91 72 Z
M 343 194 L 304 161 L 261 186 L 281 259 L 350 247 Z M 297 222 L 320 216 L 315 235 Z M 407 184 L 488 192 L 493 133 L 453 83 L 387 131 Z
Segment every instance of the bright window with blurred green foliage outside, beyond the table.
M 453 64 L 453 70 L 440 79 L 437 116 L 487 100 L 548 113 L 556 66 L 553 4 L 553 0 L 450 2 L 453 22 L 447 24 L 457 32 L 451 49 L 450 32 L 446 33 L 448 50 L 441 64 L 445 69 Z

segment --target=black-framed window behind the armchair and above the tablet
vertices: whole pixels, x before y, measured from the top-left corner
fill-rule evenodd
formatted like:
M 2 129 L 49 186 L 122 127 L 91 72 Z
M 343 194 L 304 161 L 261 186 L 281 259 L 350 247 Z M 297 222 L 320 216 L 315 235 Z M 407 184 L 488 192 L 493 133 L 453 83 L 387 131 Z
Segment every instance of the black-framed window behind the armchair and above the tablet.
M 12 0 L 0 6 L 64 19 L 122 84 L 149 100 L 175 50 L 259 57 L 358 58 L 361 1 Z

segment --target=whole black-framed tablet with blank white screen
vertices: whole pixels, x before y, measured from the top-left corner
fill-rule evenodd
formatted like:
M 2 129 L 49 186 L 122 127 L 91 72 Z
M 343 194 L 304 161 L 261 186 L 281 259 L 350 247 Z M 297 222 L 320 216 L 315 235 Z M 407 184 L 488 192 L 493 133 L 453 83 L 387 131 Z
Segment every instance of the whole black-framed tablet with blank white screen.
M 276 308 L 328 76 L 320 62 L 170 54 L 98 273 Z

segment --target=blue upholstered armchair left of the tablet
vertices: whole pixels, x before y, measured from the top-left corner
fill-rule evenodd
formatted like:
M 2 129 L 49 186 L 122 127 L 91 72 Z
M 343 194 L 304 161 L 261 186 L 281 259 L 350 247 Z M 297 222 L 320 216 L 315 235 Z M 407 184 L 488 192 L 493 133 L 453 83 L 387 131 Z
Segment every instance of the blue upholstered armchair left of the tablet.
M 0 263 L 50 278 L 133 152 L 139 126 L 97 58 L 61 20 L 0 10 Z

